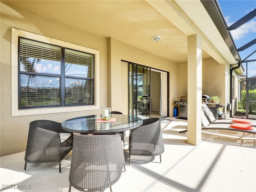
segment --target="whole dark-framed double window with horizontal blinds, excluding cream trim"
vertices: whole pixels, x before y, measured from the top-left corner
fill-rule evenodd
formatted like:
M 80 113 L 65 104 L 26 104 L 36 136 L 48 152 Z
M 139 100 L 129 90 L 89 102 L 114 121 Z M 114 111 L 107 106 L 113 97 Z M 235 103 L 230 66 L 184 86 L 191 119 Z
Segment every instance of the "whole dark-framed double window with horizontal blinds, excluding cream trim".
M 19 38 L 19 109 L 94 104 L 94 55 Z

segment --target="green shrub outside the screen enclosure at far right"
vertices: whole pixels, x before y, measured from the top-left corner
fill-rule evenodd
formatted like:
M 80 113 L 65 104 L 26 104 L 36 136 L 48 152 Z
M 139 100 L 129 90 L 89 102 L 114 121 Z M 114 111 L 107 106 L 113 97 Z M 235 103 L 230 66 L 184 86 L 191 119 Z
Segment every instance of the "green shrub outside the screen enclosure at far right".
M 256 89 L 249 90 L 249 100 L 256 101 Z M 238 104 L 242 109 L 246 109 L 246 91 L 241 91 L 241 100 Z M 249 102 L 249 114 L 256 114 L 256 102 Z

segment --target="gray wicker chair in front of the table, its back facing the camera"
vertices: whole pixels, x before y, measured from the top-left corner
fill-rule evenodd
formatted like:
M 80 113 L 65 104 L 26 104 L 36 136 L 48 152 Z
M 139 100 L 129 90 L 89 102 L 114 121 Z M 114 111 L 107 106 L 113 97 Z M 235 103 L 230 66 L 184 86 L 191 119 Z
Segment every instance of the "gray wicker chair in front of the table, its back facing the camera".
M 101 191 L 116 183 L 124 165 L 124 152 L 119 134 L 74 134 L 69 174 L 71 186 L 80 191 Z

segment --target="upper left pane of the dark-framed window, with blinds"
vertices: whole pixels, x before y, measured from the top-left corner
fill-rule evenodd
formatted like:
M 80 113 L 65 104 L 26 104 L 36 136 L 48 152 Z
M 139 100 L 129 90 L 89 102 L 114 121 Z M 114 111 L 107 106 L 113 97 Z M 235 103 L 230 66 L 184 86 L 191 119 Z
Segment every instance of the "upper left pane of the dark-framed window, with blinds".
M 20 71 L 60 74 L 61 48 L 20 39 Z

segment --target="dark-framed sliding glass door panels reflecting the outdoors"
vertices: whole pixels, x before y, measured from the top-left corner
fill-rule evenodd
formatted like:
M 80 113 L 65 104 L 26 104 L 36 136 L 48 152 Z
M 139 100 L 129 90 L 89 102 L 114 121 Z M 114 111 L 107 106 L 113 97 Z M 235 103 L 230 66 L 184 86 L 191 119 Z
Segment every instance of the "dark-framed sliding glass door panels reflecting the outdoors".
M 129 64 L 129 113 L 150 117 L 150 68 Z

